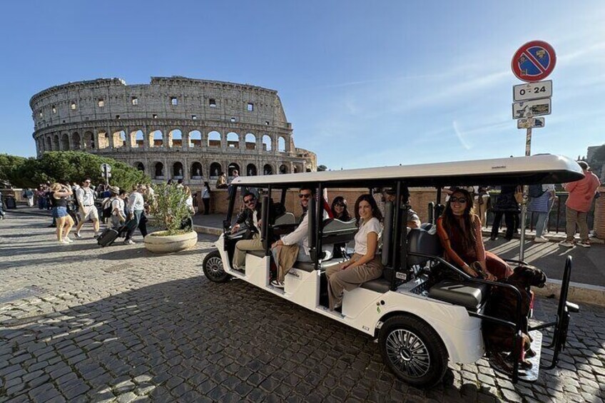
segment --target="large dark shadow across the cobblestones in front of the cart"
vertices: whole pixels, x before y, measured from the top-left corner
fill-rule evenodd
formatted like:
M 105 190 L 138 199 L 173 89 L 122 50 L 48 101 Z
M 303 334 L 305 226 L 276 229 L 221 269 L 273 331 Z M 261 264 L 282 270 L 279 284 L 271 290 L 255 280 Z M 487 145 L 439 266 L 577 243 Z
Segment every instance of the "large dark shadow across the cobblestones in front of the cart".
M 22 379 L 5 379 L 7 397 L 35 399 L 44 392 L 46 398 L 101 400 L 135 392 L 161 401 L 502 398 L 495 387 L 465 379 L 465 373 L 486 367 L 481 362 L 456 365 L 462 370 L 450 369 L 431 390 L 408 387 L 382 364 L 372 337 L 238 280 L 216 285 L 190 277 L 1 325 L 0 356 L 10 362 L 0 365 L 0 376 L 11 365 Z M 557 372 L 542 373 L 544 387 L 560 382 Z M 527 385 L 509 387 L 520 394 Z

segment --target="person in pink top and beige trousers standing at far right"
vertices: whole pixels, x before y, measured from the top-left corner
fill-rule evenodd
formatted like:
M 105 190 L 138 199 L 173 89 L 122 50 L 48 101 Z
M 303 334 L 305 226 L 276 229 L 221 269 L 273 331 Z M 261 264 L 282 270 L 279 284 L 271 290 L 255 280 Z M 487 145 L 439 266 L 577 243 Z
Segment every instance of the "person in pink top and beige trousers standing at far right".
M 559 245 L 571 248 L 574 246 L 574 235 L 576 235 L 576 225 L 580 230 L 580 242 L 578 245 L 584 248 L 590 248 L 588 241 L 588 224 L 586 215 L 590 210 L 594 193 L 599 188 L 601 182 L 599 178 L 589 171 L 589 166 L 584 161 L 578 161 L 578 165 L 584 170 L 584 179 L 576 182 L 566 183 L 564 188 L 569 192 L 565 209 L 566 233 L 567 238 Z

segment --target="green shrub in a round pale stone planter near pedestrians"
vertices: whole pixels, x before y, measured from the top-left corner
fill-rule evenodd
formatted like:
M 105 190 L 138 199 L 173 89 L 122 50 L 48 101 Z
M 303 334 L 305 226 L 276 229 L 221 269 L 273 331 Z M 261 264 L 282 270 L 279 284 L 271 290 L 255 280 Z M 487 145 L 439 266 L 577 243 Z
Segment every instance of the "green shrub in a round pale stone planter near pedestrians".
M 178 252 L 193 248 L 198 233 L 193 228 L 182 228 L 190 215 L 183 188 L 174 185 L 156 185 L 151 200 L 151 213 L 155 224 L 166 230 L 156 231 L 145 237 L 145 248 L 154 253 Z

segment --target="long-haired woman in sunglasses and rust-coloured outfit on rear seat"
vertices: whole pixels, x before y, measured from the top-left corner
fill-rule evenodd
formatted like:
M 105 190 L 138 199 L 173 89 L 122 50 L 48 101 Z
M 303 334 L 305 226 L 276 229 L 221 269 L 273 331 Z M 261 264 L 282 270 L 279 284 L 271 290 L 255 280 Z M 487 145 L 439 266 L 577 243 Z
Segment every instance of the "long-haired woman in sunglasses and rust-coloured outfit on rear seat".
M 512 274 L 511 267 L 485 250 L 481 220 L 474 214 L 472 204 L 472 195 L 467 190 L 454 189 L 437 219 L 437 235 L 446 260 L 472 277 L 492 281 L 507 278 Z

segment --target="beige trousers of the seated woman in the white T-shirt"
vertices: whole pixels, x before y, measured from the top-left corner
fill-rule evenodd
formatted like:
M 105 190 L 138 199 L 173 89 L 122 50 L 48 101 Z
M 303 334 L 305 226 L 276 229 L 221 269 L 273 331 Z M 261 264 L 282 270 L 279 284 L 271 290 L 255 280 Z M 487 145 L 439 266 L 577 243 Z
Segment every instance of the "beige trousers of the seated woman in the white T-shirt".
M 362 255 L 355 253 L 352 260 L 359 260 Z M 327 296 L 330 299 L 330 310 L 334 310 L 335 306 L 342 302 L 342 292 L 344 290 L 355 290 L 366 281 L 374 280 L 382 275 L 382 260 L 380 255 L 376 255 L 374 260 L 342 270 L 342 265 L 328 267 L 325 270 L 327 277 Z

